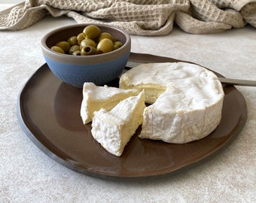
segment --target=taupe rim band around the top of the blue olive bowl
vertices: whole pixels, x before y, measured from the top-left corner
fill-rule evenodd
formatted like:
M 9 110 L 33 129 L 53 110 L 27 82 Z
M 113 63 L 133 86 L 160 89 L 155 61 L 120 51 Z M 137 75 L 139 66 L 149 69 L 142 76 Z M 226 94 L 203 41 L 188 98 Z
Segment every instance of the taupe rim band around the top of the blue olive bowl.
M 65 29 L 71 29 L 75 27 L 86 27 L 90 25 L 96 25 L 96 26 L 99 26 L 99 28 L 104 27 L 104 28 L 114 29 L 117 32 L 120 32 L 122 35 L 124 35 L 126 38 L 126 41 L 123 44 L 123 46 L 117 50 L 112 50 L 111 52 L 108 52 L 108 53 L 101 53 L 101 54 L 90 55 L 90 56 L 74 56 L 69 54 L 57 53 L 51 50 L 50 47 L 48 47 L 46 44 L 47 38 L 49 38 L 51 35 L 55 34 L 56 32 L 60 32 Z M 116 26 L 111 26 L 105 23 L 78 23 L 78 24 L 69 25 L 69 26 L 62 26 L 62 27 L 53 29 L 50 32 L 47 32 L 47 34 L 45 34 L 41 39 L 41 48 L 42 48 L 43 54 L 50 59 L 54 59 L 54 60 L 58 59 L 66 63 L 75 62 L 77 64 L 84 64 L 84 63 L 91 64 L 91 63 L 98 63 L 99 61 L 97 62 L 96 59 L 99 59 L 99 58 L 100 60 L 104 61 L 106 59 L 110 60 L 110 59 L 115 59 L 118 56 L 123 56 L 123 54 L 126 54 L 127 51 L 130 51 L 131 38 L 127 32 L 125 32 L 123 29 L 120 29 Z

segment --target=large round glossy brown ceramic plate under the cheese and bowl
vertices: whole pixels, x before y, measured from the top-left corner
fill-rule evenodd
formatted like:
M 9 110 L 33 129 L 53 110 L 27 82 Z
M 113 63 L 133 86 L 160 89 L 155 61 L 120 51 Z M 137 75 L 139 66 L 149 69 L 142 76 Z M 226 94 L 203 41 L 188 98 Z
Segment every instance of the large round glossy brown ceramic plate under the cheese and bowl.
M 178 61 L 139 53 L 132 53 L 130 60 Z M 108 85 L 117 86 L 118 79 Z M 62 83 L 46 64 L 32 75 L 20 92 L 18 116 L 26 135 L 39 149 L 74 171 L 114 179 L 156 177 L 207 160 L 236 138 L 247 117 L 245 99 L 234 86 L 224 86 L 224 92 L 221 123 L 206 138 L 188 144 L 167 144 L 139 139 L 139 128 L 120 157 L 111 155 L 93 139 L 90 123 L 82 124 L 81 89 Z

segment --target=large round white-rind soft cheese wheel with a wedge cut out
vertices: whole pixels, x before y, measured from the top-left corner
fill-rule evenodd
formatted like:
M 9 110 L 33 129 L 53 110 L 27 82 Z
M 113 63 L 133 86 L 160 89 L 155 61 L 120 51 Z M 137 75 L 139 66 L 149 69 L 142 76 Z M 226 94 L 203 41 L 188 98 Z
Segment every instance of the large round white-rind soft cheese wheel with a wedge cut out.
M 182 144 L 209 135 L 221 121 L 224 92 L 218 77 L 186 62 L 139 65 L 120 77 L 120 88 L 145 89 L 140 138 Z

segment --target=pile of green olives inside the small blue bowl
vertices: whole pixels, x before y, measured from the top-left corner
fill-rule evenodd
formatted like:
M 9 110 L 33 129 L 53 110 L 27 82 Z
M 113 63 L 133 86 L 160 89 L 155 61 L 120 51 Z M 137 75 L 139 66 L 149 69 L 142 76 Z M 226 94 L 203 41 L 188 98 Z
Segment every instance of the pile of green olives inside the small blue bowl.
M 59 41 L 51 50 L 75 56 L 89 56 L 108 53 L 122 47 L 123 43 L 117 41 L 110 33 L 101 32 L 98 26 L 86 26 L 77 36 L 71 36 L 67 41 Z

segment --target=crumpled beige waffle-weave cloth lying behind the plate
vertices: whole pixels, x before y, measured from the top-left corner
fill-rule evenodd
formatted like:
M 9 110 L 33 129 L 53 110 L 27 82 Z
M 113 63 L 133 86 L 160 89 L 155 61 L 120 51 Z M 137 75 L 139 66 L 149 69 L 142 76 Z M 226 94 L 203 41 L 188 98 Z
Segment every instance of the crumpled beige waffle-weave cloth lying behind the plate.
M 0 12 L 0 30 L 25 29 L 47 14 L 108 23 L 133 35 L 167 35 L 174 23 L 206 34 L 256 27 L 256 0 L 27 0 Z

